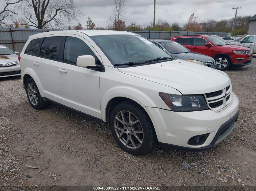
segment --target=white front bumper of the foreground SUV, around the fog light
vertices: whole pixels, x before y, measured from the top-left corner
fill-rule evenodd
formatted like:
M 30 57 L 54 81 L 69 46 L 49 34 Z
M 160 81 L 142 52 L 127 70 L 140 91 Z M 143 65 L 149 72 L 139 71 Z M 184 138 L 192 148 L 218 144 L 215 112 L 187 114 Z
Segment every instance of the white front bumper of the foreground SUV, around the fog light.
M 233 92 L 232 94 L 231 103 L 216 112 L 212 110 L 173 112 L 152 107 L 144 109 L 152 120 L 160 146 L 203 151 L 223 141 L 234 129 L 239 102 L 237 96 Z M 203 144 L 188 144 L 191 137 L 208 133 Z

